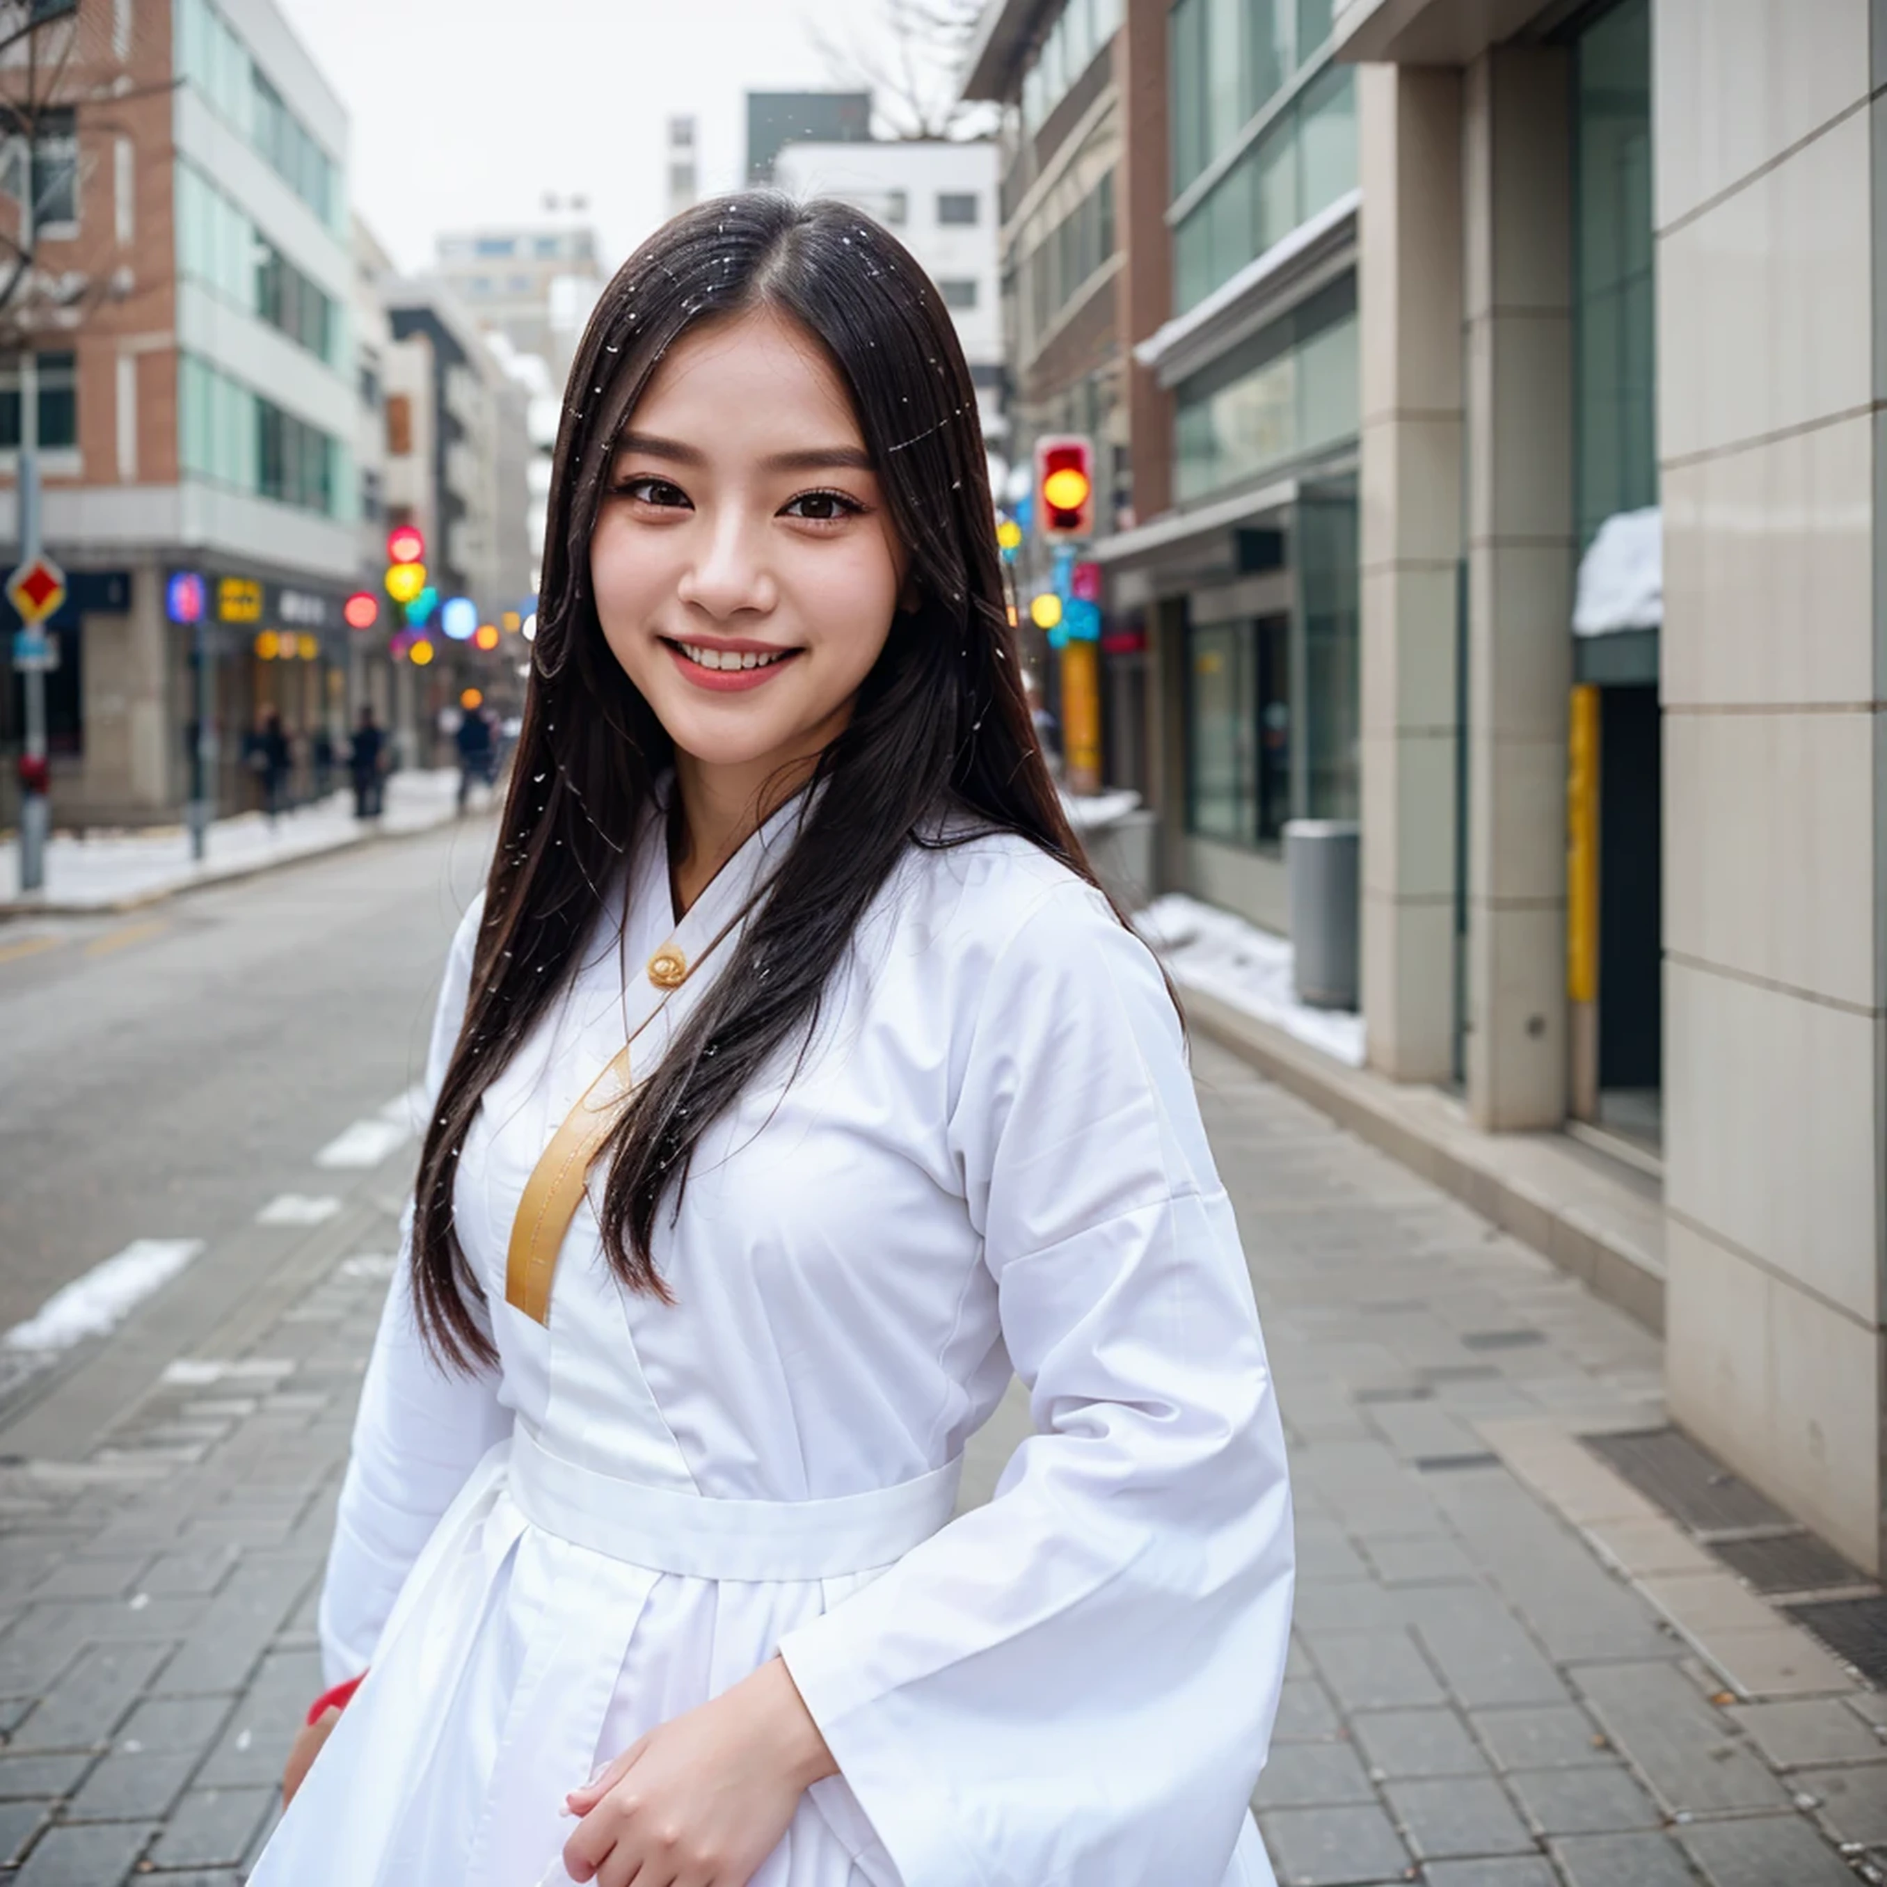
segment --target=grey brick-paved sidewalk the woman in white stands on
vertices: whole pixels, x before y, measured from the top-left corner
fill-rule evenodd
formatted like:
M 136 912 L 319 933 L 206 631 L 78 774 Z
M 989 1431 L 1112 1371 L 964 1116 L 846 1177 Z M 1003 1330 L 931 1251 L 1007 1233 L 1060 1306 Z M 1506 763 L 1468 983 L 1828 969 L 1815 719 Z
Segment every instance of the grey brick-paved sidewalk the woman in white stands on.
M 1223 1049 L 1196 1062 L 1296 1472 L 1298 1627 L 1259 1789 L 1285 1887 L 1881 1881 L 1887 1696 L 1766 1608 L 1738 1621 L 1764 1645 L 1738 1681 L 1589 1544 L 1621 1564 L 1659 1544 L 1568 1440 L 1661 1419 L 1655 1340 Z M 285 1230 L 285 1283 L 83 1461 L 0 1464 L 21 1887 L 232 1887 L 264 1838 L 317 1689 L 398 1168 Z M 1011 1398 L 974 1485 L 1015 1419 Z

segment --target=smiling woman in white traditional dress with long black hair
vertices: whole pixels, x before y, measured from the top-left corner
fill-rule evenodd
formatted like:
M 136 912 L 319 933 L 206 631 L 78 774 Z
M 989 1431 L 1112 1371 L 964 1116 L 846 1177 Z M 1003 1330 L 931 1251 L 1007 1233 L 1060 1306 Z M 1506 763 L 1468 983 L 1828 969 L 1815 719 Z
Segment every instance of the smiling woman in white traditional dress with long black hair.
M 253 1881 L 1270 1883 L 1251 1289 L 906 251 L 651 238 L 543 577 L 321 1604 L 370 1668 Z M 953 1521 L 1011 1364 L 1038 1432 Z

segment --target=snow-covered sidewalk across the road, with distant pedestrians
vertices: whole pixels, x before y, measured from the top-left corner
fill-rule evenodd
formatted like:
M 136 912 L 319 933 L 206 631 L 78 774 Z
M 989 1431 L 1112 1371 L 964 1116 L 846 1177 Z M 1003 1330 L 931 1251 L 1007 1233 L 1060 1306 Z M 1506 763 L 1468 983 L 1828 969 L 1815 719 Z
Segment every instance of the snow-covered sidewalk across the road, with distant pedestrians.
M 387 779 L 385 815 L 377 821 L 355 819 L 351 791 L 298 806 L 274 825 L 262 813 L 236 813 L 209 827 L 202 862 L 191 857 L 183 827 L 98 838 L 58 832 L 45 849 L 45 885 L 36 893 L 19 889 L 19 842 L 9 840 L 0 845 L 0 917 L 130 910 L 372 838 L 425 832 L 455 817 L 457 794 L 457 768 L 425 768 Z

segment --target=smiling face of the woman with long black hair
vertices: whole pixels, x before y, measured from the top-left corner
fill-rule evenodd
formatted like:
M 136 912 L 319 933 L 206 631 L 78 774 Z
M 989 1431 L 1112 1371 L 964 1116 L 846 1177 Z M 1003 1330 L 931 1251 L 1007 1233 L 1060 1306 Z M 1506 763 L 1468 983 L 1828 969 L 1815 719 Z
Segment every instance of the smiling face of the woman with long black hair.
M 802 328 L 755 311 L 666 355 L 610 470 L 591 583 L 683 755 L 764 776 L 819 753 L 906 562 L 845 387 Z

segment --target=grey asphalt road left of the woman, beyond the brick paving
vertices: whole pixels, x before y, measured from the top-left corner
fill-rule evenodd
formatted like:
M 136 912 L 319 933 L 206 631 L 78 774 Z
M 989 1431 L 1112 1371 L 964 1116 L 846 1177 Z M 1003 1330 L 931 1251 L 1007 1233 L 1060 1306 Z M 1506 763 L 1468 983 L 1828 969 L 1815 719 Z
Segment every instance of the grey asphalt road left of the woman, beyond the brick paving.
M 215 1242 L 309 1191 L 315 1151 L 417 1079 L 491 836 L 0 923 L 0 1330 L 136 1238 Z

